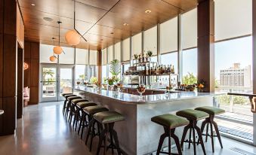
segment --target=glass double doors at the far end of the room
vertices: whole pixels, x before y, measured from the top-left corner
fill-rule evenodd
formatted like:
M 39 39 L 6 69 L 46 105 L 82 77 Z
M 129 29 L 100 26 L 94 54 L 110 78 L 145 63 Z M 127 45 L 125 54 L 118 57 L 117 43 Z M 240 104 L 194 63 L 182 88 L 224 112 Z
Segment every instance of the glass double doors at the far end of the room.
M 41 65 L 40 102 L 63 101 L 62 93 L 72 93 L 74 65 Z

